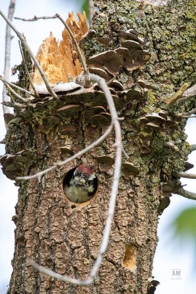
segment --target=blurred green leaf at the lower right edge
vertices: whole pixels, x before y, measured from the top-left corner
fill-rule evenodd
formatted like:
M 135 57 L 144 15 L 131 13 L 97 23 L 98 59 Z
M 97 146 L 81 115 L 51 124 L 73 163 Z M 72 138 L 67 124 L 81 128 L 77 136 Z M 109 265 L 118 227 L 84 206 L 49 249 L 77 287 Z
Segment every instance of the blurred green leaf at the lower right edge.
M 181 239 L 192 237 L 196 240 L 196 207 L 182 211 L 172 225 L 177 237 Z

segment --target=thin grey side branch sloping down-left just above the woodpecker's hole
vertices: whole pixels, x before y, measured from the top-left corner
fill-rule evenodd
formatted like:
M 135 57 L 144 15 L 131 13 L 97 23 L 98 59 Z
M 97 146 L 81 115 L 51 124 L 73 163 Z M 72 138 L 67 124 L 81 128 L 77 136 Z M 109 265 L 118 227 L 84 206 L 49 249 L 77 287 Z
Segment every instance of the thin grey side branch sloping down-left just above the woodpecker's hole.
M 113 129 L 113 124 L 111 124 L 109 126 L 109 128 L 106 130 L 106 132 L 100 138 L 98 138 L 98 140 L 96 140 L 95 142 L 93 142 L 91 145 L 89 145 L 88 147 L 84 148 L 83 150 L 77 152 L 72 157 L 69 157 L 68 159 L 66 159 L 64 161 L 57 162 L 52 167 L 50 167 L 50 168 L 48 168 L 48 169 L 46 169 L 46 170 L 44 170 L 42 172 L 37 172 L 37 173 L 35 173 L 33 175 L 29 175 L 29 176 L 18 176 L 18 177 L 16 177 L 16 180 L 30 180 L 30 179 L 34 179 L 34 178 L 41 179 L 42 176 L 45 173 L 50 172 L 50 171 L 55 170 L 55 169 L 60 169 L 62 166 L 66 165 L 70 161 L 72 161 L 75 158 L 83 155 L 84 153 L 88 152 L 89 150 L 91 150 L 92 148 L 94 148 L 98 144 L 100 144 L 111 133 L 112 129 Z

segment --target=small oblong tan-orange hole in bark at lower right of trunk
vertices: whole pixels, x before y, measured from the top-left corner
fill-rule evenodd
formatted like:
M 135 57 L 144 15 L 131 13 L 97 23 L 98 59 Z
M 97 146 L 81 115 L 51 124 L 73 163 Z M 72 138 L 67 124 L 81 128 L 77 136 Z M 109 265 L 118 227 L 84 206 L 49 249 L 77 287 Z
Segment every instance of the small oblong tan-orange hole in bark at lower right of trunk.
M 136 270 L 136 255 L 137 248 L 133 245 L 125 246 L 125 253 L 123 258 L 123 267 L 129 270 Z

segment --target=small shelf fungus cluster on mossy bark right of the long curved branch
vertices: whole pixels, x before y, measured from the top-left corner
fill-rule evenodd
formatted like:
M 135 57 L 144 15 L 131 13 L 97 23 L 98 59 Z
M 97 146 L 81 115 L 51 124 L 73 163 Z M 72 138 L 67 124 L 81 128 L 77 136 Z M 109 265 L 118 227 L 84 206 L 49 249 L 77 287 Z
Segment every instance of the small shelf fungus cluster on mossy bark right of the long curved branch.
M 158 130 L 162 134 L 172 134 L 177 124 L 170 119 L 163 111 L 147 114 L 139 119 L 139 143 L 143 153 L 147 153 L 153 132 Z

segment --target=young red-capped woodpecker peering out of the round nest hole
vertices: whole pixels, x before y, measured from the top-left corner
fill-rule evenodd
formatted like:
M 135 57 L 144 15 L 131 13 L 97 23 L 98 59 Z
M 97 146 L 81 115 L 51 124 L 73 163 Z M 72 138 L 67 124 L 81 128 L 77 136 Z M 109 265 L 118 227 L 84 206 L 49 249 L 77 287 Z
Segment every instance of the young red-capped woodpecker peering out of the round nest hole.
M 83 203 L 95 195 L 97 186 L 95 170 L 83 164 L 73 172 L 69 182 L 64 184 L 63 190 L 71 202 Z

